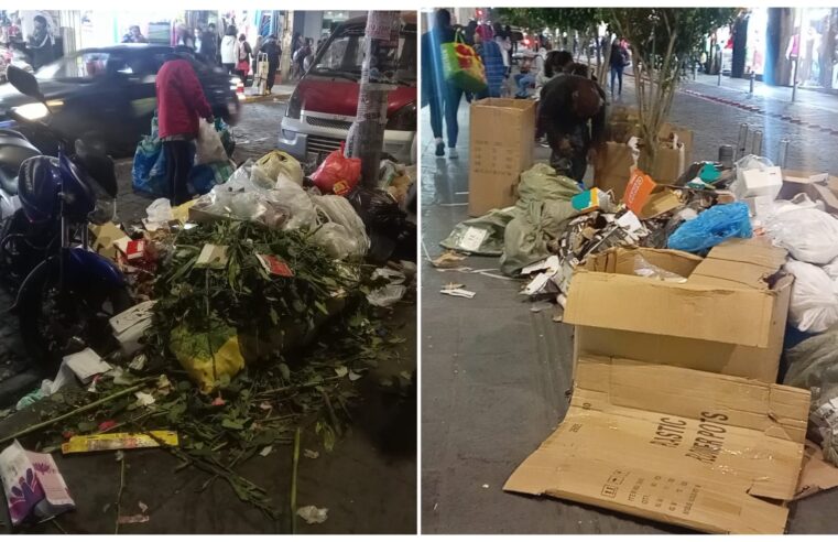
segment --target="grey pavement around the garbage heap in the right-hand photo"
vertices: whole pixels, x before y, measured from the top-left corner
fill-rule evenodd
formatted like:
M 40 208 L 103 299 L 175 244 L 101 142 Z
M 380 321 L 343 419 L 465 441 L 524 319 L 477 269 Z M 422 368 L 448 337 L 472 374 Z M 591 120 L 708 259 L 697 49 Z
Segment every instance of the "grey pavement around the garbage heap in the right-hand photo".
M 625 83 L 625 82 L 624 82 Z M 634 104 L 631 77 L 617 104 Z M 734 90 L 733 90 L 734 91 Z M 805 107 L 805 106 L 804 106 Z M 831 167 L 825 138 L 780 119 L 681 93 L 672 120 L 696 136 L 694 159 L 714 159 L 736 144 L 739 122 L 757 123 L 772 153 L 782 137 L 795 139 L 790 166 Z M 435 258 L 438 242 L 467 218 L 469 109 L 459 108 L 459 159 L 434 156 L 428 109 L 422 126 L 422 243 Z M 732 141 L 730 141 L 732 139 Z M 831 138 L 826 138 L 832 141 Z M 536 160 L 548 151 L 536 149 Z M 497 270 L 497 258 L 470 257 L 475 270 Z M 499 271 L 496 273 L 500 274 Z M 686 530 L 567 500 L 505 494 L 514 468 L 564 418 L 573 386 L 573 327 L 554 323 L 520 295 L 521 281 L 440 272 L 422 262 L 422 529 L 434 533 L 659 534 Z M 462 283 L 474 299 L 440 295 Z M 836 532 L 838 491 L 793 502 L 787 532 Z

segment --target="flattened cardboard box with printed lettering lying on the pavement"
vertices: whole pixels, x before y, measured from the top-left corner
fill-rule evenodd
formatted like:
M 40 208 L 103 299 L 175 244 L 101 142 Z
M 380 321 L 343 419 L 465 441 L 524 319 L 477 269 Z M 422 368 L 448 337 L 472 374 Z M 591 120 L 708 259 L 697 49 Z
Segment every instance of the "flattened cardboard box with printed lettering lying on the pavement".
M 780 534 L 795 495 L 809 392 L 585 357 L 558 429 L 507 491 L 546 495 L 710 533 Z

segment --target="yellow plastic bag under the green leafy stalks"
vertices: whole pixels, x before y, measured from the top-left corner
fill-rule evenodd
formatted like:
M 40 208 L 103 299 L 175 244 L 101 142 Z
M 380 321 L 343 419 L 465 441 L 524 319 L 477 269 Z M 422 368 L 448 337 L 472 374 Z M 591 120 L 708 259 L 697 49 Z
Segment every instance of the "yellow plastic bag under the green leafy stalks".
M 207 333 L 177 326 L 172 330 L 168 347 L 204 393 L 211 392 L 224 376 L 232 378 L 244 368 L 233 327 L 219 325 Z

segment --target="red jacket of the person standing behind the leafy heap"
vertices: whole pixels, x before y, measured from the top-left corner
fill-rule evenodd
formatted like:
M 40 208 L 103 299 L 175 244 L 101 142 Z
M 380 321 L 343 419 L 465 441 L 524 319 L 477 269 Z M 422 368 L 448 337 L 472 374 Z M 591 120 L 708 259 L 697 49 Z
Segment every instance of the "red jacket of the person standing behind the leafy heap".
M 157 129 L 160 138 L 197 137 L 198 118 L 213 115 L 198 76 L 188 61 L 168 61 L 157 72 Z

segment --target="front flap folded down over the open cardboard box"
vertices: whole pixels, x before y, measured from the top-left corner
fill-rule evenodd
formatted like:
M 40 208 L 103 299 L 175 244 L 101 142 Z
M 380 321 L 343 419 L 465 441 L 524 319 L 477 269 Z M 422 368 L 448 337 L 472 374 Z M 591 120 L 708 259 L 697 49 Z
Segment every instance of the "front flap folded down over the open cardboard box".
M 565 322 L 765 348 L 772 294 L 577 269 Z

